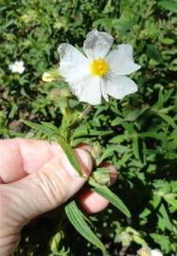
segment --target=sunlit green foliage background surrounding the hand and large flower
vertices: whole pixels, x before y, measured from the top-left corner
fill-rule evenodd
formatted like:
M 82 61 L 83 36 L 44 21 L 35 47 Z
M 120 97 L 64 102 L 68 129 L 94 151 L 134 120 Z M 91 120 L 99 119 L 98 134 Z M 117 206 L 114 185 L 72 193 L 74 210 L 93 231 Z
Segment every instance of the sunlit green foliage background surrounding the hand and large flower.
M 165 255 L 176 255 L 176 12 L 175 0 L 0 1 L 0 137 L 32 137 L 19 119 L 60 125 L 53 101 L 60 84 L 44 84 L 42 75 L 59 64 L 62 42 L 81 47 L 92 28 L 105 30 L 115 44 L 132 44 L 134 59 L 142 65 L 133 75 L 138 93 L 95 107 L 86 120 L 89 129 L 97 130 L 103 157 L 117 167 L 114 189 L 133 215 L 128 220 L 110 207 L 91 217 L 109 255 L 134 255 L 145 241 Z M 16 60 L 25 62 L 23 75 L 9 71 Z M 110 133 L 102 136 L 105 130 Z M 50 246 L 60 227 L 63 233 Z M 139 232 L 135 238 L 134 230 Z M 101 253 L 55 213 L 27 226 L 15 255 Z

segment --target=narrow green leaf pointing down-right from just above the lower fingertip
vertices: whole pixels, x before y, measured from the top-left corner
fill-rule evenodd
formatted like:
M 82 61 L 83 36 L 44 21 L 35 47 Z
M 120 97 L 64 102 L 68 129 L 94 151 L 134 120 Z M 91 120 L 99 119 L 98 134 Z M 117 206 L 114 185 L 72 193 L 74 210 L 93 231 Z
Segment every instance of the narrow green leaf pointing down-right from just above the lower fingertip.
M 97 185 L 92 190 L 108 199 L 112 205 L 114 205 L 118 210 L 122 211 L 122 213 L 124 213 L 128 218 L 131 217 L 131 212 L 128 210 L 122 200 L 106 186 Z

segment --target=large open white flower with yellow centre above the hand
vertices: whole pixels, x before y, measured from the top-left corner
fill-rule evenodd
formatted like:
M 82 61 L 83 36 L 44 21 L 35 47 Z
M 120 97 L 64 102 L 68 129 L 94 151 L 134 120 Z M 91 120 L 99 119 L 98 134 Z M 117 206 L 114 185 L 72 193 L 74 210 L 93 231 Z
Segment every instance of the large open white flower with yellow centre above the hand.
M 109 52 L 113 42 L 111 35 L 93 30 L 83 44 L 86 56 L 69 44 L 59 46 L 60 74 L 80 101 L 96 105 L 102 97 L 120 100 L 137 91 L 135 82 L 126 77 L 140 68 L 133 62 L 133 46 L 122 44 Z

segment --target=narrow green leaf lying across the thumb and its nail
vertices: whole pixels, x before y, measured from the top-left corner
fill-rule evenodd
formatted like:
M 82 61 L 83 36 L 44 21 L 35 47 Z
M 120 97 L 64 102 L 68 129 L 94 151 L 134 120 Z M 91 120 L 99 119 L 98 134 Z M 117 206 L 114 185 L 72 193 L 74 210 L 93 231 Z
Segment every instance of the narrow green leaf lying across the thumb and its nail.
M 83 176 L 79 160 L 73 148 L 65 141 L 65 139 L 62 136 L 58 136 L 57 139 L 58 143 L 61 145 L 62 150 L 67 156 L 71 165 L 75 168 L 76 172 L 80 174 L 80 176 Z

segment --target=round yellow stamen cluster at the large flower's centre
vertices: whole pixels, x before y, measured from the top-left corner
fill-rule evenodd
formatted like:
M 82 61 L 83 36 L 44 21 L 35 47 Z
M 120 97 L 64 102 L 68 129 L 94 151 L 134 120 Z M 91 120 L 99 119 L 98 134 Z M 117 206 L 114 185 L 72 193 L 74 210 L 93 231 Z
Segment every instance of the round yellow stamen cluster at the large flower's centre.
M 90 68 L 94 76 L 102 77 L 109 71 L 110 66 L 104 60 L 97 59 L 94 62 L 92 62 Z

